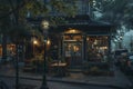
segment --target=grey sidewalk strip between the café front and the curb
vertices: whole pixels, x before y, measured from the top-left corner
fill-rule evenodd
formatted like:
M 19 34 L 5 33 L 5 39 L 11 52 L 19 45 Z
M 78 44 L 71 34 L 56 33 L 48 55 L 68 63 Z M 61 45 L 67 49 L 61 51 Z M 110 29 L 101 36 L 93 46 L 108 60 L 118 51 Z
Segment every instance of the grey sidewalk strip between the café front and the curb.
M 20 78 L 31 80 L 42 80 L 42 76 L 35 73 L 20 72 Z M 0 69 L 0 77 L 16 77 L 14 70 L 9 66 Z M 132 83 L 119 69 L 114 68 L 114 76 L 84 76 L 83 73 L 70 73 L 68 77 L 47 76 L 48 81 L 79 83 L 79 85 L 98 85 L 110 86 L 115 88 L 129 89 Z

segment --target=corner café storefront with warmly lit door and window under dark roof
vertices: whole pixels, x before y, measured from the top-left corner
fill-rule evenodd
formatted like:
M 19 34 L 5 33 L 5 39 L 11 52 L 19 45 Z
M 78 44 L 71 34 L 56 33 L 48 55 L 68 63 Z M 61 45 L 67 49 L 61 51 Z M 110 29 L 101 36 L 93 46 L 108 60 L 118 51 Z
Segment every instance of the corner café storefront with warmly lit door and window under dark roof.
M 69 67 L 81 68 L 84 62 L 109 60 L 112 32 L 110 24 L 72 23 L 58 26 L 55 29 L 58 56 L 65 60 Z

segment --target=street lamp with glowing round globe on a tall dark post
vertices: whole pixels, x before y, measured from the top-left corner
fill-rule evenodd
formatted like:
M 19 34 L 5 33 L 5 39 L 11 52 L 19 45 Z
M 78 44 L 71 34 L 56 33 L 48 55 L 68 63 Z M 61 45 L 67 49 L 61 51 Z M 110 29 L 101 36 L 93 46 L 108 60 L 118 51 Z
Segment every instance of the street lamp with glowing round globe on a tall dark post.
M 43 80 L 40 89 L 49 89 L 47 85 L 47 40 L 48 40 L 48 29 L 49 29 L 49 22 L 47 20 L 43 20 L 41 22 L 42 29 L 43 29 L 43 36 L 44 36 L 44 59 L 43 59 Z

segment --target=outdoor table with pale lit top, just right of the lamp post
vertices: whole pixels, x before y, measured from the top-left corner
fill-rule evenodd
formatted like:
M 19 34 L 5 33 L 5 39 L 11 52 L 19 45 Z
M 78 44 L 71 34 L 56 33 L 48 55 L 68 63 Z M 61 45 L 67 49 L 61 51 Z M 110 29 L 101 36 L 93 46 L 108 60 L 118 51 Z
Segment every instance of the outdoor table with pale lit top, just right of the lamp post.
M 66 63 L 55 62 L 50 66 L 50 71 L 55 76 L 63 77 L 66 75 Z

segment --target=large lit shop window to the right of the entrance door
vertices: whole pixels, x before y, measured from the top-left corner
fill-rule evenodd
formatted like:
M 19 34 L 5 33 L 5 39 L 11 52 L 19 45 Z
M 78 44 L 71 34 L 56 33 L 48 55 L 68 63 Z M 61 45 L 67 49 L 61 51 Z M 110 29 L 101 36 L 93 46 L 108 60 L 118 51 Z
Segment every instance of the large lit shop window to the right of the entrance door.
M 88 36 L 86 37 L 88 60 L 102 61 L 108 53 L 108 37 L 106 36 Z

